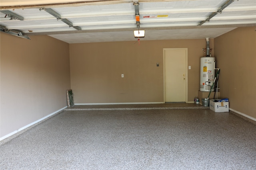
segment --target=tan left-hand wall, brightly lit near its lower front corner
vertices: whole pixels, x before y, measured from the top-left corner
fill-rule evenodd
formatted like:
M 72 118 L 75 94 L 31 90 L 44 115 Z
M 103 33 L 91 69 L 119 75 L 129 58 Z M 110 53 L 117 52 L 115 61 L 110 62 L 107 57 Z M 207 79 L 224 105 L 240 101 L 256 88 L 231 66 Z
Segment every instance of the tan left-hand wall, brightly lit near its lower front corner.
M 3 137 L 66 106 L 70 64 L 68 43 L 46 35 L 0 36 Z

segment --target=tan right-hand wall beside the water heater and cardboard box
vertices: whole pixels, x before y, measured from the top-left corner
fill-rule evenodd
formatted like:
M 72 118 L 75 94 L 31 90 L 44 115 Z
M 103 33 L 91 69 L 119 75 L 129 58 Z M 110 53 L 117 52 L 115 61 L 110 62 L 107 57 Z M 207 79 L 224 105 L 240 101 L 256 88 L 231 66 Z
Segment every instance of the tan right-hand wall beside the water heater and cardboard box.
M 256 31 L 240 27 L 214 39 L 221 98 L 256 119 Z

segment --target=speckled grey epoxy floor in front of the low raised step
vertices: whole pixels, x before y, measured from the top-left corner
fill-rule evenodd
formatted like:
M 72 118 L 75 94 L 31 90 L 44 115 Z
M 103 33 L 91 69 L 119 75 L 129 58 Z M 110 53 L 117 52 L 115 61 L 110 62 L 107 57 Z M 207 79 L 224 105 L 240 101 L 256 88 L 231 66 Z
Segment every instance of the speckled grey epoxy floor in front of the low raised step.
M 66 110 L 0 156 L 1 169 L 255 170 L 256 125 L 210 109 Z

